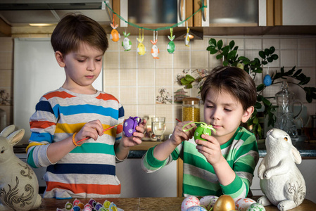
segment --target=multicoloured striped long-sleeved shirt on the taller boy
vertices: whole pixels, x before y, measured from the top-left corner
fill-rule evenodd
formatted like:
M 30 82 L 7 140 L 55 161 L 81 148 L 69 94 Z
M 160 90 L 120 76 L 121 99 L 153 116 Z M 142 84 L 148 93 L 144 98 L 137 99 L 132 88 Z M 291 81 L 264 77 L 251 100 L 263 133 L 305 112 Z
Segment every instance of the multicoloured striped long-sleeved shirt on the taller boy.
M 120 181 L 115 174 L 114 144 L 122 138 L 122 124 L 73 149 L 56 163 L 46 155 L 50 143 L 72 136 L 91 120 L 103 128 L 121 123 L 124 108 L 118 99 L 103 91 L 76 94 L 60 88 L 42 96 L 30 117 L 31 137 L 27 162 L 32 167 L 47 167 L 44 198 L 110 198 L 120 196 Z

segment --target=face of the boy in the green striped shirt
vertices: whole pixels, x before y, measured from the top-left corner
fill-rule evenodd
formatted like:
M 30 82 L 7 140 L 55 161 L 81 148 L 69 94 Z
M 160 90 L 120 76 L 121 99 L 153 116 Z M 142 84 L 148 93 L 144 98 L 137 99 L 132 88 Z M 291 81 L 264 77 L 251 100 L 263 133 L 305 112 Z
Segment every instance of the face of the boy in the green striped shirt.
M 204 102 L 204 120 L 212 124 L 216 132 L 212 132 L 217 141 L 226 143 L 232 138 L 241 122 L 246 122 L 253 113 L 253 108 L 246 111 L 241 103 L 226 90 L 210 89 Z

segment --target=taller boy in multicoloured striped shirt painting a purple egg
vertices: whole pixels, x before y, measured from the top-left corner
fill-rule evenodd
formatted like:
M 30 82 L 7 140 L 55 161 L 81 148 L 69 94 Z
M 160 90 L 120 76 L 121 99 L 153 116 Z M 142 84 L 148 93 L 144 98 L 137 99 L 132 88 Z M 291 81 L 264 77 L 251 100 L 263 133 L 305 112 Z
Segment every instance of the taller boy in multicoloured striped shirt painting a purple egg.
M 113 95 L 92 86 L 108 48 L 99 23 L 84 15 L 66 15 L 53 30 L 51 44 L 66 79 L 61 88 L 40 98 L 30 117 L 27 162 L 47 167 L 44 198 L 119 197 L 115 163 L 141 143 L 146 122 L 125 137 L 120 124 L 124 108 Z M 115 124 L 120 125 L 103 132 Z

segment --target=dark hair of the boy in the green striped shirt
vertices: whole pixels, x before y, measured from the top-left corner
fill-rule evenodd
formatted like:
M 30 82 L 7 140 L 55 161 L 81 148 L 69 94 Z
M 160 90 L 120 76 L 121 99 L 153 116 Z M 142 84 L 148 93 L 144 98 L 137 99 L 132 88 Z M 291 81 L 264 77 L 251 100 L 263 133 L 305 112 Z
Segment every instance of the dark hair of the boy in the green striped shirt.
M 255 106 L 257 101 L 255 82 L 245 70 L 240 68 L 228 66 L 214 68 L 203 82 L 201 89 L 203 102 L 211 88 L 215 91 L 228 91 L 241 103 L 244 110 Z

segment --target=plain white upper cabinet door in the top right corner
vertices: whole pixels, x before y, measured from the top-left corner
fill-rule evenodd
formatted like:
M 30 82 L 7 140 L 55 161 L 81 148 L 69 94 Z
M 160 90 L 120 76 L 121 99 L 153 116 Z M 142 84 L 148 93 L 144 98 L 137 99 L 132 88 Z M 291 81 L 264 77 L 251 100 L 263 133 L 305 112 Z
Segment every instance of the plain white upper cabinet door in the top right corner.
M 282 1 L 283 25 L 316 25 L 315 0 Z

